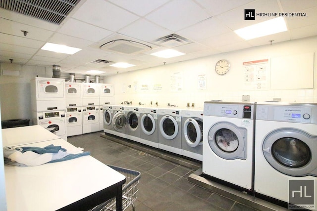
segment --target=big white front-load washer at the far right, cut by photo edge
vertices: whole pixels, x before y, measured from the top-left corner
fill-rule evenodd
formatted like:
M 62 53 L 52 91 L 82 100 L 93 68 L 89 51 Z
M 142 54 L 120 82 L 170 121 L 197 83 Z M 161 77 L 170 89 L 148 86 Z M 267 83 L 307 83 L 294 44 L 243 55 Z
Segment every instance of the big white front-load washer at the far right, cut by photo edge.
M 255 131 L 255 192 L 317 210 L 317 104 L 258 103 Z

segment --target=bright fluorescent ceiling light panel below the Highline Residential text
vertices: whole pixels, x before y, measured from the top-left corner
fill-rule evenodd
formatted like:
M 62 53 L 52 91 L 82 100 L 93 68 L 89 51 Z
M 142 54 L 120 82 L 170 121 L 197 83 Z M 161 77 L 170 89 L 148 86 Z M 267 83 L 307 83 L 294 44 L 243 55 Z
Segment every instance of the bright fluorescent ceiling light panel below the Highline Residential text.
M 235 30 L 234 32 L 245 40 L 251 40 L 285 31 L 287 31 L 287 27 L 284 18 L 278 17 Z

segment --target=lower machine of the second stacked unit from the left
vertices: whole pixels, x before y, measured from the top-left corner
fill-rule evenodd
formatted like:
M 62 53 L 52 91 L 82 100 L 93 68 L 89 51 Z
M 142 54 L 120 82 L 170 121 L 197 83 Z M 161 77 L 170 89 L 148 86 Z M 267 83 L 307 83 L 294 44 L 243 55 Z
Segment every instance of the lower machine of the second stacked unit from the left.
M 83 134 L 82 107 L 66 107 L 67 136 Z

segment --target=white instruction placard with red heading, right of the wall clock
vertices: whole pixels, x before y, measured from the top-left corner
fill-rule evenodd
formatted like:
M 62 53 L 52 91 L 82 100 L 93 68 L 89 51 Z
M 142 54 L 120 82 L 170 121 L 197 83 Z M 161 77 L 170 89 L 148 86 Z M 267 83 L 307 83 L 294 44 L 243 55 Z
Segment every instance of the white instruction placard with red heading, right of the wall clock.
M 267 90 L 270 84 L 269 59 L 243 62 L 244 84 L 247 90 Z

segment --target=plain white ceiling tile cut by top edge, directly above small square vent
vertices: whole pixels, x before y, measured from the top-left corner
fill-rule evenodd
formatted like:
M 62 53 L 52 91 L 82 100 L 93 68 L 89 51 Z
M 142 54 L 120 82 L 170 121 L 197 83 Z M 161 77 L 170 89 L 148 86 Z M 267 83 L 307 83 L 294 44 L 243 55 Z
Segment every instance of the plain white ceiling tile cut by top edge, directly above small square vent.
M 172 31 L 178 31 L 211 16 L 192 0 L 172 0 L 145 16 Z

